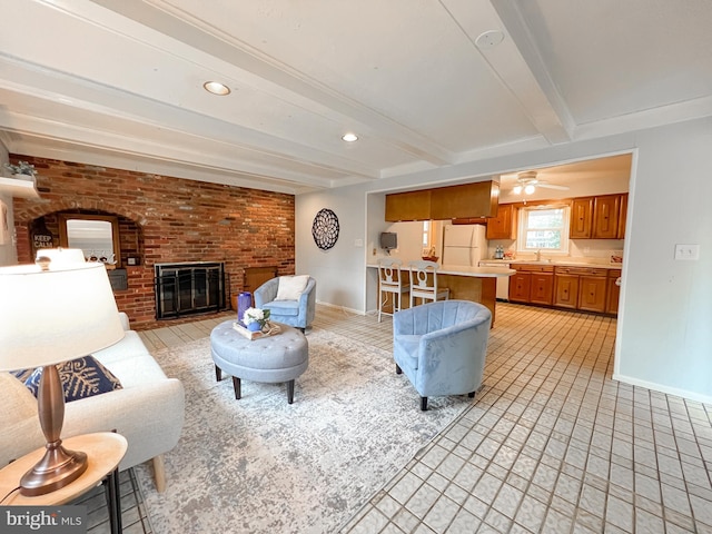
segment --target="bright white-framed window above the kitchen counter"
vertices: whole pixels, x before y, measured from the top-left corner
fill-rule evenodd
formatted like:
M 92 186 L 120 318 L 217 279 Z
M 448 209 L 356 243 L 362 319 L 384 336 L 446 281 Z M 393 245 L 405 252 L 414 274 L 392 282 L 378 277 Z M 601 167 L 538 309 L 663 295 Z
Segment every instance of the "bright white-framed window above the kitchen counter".
M 568 254 L 568 206 L 520 209 L 517 251 Z

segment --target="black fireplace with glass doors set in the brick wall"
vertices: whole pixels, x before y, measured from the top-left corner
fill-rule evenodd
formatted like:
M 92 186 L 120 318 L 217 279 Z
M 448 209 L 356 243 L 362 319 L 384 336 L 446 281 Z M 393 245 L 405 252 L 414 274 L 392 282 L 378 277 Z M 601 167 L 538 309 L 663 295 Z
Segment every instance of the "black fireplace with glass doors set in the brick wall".
M 156 264 L 156 318 L 225 309 L 222 263 Z

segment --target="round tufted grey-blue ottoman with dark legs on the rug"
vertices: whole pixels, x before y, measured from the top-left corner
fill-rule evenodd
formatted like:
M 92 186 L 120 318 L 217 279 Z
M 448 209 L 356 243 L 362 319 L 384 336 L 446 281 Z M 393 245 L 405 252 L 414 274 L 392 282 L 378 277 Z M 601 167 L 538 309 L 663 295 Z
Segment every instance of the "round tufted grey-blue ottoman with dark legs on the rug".
M 279 325 L 279 334 L 247 339 L 235 328 L 234 320 L 220 323 L 210 334 L 210 353 L 215 376 L 222 372 L 233 376 L 235 398 L 239 399 L 240 380 L 287 383 L 287 402 L 294 402 L 294 380 L 307 370 L 309 346 L 304 334 L 287 325 Z

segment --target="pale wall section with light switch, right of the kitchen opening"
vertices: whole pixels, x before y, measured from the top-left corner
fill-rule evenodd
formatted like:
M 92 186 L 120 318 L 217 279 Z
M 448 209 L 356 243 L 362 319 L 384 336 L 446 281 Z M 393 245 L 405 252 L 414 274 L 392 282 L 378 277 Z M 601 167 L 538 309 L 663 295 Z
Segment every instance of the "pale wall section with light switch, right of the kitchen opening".
M 640 132 L 616 378 L 712 400 L 712 119 Z M 699 261 L 675 261 L 699 244 Z

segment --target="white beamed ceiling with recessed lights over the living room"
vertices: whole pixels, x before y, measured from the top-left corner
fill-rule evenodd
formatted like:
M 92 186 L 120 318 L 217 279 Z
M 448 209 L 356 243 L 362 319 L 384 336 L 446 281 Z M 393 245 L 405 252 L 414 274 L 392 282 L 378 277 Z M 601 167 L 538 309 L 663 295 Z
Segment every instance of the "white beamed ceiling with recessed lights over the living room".
M 299 194 L 712 115 L 710 0 L 0 0 L 0 12 L 11 152 L 220 184 Z M 490 30 L 503 41 L 477 47 Z

